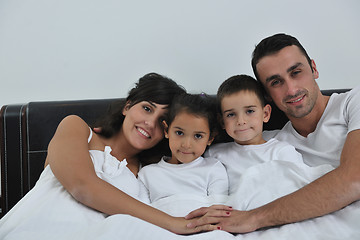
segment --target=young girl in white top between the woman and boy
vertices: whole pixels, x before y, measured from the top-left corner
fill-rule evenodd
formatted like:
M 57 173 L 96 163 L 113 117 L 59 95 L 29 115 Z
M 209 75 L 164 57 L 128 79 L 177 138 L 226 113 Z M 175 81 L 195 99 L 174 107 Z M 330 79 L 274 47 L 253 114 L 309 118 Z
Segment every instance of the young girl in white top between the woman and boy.
M 139 172 L 144 201 L 148 198 L 153 206 L 184 216 L 198 206 L 221 202 L 218 197 L 228 195 L 225 167 L 213 158 L 202 157 L 216 133 L 215 106 L 215 101 L 205 94 L 175 98 L 164 123 L 171 156 Z

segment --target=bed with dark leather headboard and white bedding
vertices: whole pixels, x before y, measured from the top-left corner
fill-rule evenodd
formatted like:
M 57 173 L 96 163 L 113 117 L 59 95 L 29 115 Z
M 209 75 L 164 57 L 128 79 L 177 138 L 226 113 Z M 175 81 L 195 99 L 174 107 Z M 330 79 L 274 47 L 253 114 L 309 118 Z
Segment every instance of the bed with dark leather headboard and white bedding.
M 330 95 L 333 92 L 340 93 L 347 90 L 335 89 L 322 92 Z M 65 116 L 76 114 L 91 124 L 117 100 L 119 99 L 29 102 L 5 105 L 1 108 L 1 217 L 34 187 L 43 170 L 47 145 L 58 123 Z M 286 116 L 273 106 L 271 120 L 264 129 L 280 129 L 286 122 Z M 228 140 L 223 137 L 217 139 L 217 142 Z M 243 210 L 251 209 L 290 193 L 331 170 L 319 168 L 309 174 L 304 171 L 303 166 L 289 168 L 287 164 L 276 162 L 249 169 L 244 174 L 248 177 L 244 177 L 239 184 L 238 195 L 226 198 L 223 203 L 237 204 L 237 207 Z M 273 174 L 274 171 L 277 174 Z M 264 179 L 266 179 L 265 185 L 262 184 Z M 235 203 L 234 199 L 241 201 Z M 179 210 L 188 210 L 188 202 L 181 197 L 162 202 L 164 210 L 171 210 L 168 206 L 174 201 L 178 202 Z M 194 197 L 192 204 L 209 205 L 211 201 Z M 84 225 L 74 231 L 72 237 L 74 239 L 360 239 L 360 202 L 323 217 L 248 234 L 233 235 L 224 231 L 213 231 L 180 236 L 140 219 L 118 214 Z M 52 236 L 52 239 L 57 237 Z M 62 239 L 61 235 L 58 239 Z

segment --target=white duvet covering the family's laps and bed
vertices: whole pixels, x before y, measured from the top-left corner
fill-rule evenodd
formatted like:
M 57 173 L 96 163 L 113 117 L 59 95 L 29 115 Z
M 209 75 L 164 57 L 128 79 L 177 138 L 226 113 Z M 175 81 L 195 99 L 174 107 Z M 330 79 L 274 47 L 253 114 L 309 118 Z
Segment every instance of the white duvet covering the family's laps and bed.
M 239 179 L 238 191 L 230 197 L 204 198 L 184 194 L 161 199 L 153 205 L 178 216 L 213 203 L 225 203 L 236 209 L 248 210 L 291 193 L 330 170 L 332 168 L 327 165 L 310 168 L 304 164 L 271 161 L 247 169 Z M 34 222 L 34 228 L 41 228 L 36 235 L 32 231 L 16 231 L 11 237 L 4 236 L 4 239 L 360 239 L 360 201 L 323 217 L 237 235 L 212 231 L 181 236 L 122 214 L 106 218 L 102 215 L 98 218 L 92 216 L 91 219 L 83 220 L 75 224 L 68 219 L 50 228 L 41 228 L 39 222 Z M 41 222 L 41 219 L 38 221 Z

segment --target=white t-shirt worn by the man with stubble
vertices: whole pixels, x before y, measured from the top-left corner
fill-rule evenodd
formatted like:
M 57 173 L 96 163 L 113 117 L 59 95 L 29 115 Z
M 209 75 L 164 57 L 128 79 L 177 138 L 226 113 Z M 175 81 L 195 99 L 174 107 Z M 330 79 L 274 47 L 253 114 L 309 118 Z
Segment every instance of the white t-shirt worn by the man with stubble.
M 347 134 L 360 129 L 360 86 L 330 96 L 314 132 L 301 136 L 289 121 L 281 130 L 264 131 L 264 139 L 276 138 L 293 145 L 309 166 L 338 167 Z M 360 147 L 360 146 L 359 146 Z

